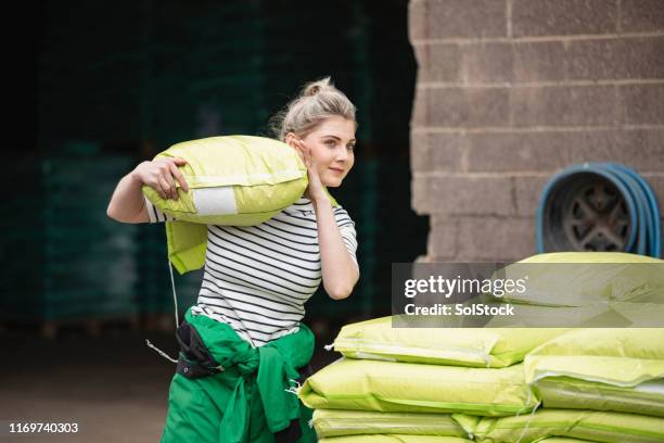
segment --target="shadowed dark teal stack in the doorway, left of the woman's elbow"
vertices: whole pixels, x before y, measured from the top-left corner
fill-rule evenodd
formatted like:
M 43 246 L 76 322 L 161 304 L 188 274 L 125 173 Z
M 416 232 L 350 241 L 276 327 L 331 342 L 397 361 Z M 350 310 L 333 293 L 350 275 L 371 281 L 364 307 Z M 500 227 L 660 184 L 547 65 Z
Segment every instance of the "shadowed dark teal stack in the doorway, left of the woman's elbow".
M 130 164 L 115 155 L 42 162 L 42 319 L 137 314 L 137 228 L 106 216 L 110 195 Z

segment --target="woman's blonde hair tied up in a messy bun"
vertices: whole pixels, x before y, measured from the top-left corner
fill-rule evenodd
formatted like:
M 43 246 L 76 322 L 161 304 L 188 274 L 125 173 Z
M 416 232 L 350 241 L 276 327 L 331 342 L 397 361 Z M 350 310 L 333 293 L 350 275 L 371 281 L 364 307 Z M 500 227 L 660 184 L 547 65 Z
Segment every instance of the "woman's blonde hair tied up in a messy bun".
M 272 117 L 270 126 L 274 136 L 284 141 L 289 132 L 305 137 L 322 121 L 335 116 L 352 121 L 357 128 L 355 105 L 325 77 L 306 84 L 299 96 Z

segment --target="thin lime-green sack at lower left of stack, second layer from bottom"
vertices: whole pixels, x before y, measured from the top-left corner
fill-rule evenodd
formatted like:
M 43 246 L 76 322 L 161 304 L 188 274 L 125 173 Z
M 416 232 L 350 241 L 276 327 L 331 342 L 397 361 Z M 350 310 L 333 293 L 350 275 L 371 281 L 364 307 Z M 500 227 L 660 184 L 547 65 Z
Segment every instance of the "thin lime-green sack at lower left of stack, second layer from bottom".
M 468 436 L 447 414 L 316 409 L 311 422 L 319 439 L 383 433 Z

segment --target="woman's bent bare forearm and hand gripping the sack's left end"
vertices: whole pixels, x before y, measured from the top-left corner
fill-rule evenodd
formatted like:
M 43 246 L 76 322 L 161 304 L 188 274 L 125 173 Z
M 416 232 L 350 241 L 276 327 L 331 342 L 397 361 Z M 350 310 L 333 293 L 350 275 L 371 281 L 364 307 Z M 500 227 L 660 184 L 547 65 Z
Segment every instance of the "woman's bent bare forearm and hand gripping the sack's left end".
M 178 199 L 175 180 L 177 179 L 187 192 L 187 181 L 178 166 L 187 164 L 183 159 L 159 159 L 139 164 L 117 183 L 106 215 L 122 223 L 148 223 L 150 217 L 141 188 L 148 185 L 154 188 L 163 199 Z

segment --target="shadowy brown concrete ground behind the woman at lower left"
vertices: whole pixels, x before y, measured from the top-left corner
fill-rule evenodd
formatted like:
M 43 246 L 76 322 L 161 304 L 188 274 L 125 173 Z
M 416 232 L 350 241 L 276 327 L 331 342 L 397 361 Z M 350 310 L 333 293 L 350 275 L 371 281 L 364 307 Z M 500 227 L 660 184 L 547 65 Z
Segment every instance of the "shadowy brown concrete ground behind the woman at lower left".
M 320 336 L 317 334 L 317 339 Z M 99 338 L 63 331 L 44 340 L 34 330 L 0 333 L 0 443 L 158 442 L 175 365 L 145 338 L 175 356 L 173 333 L 104 329 Z M 311 365 L 339 357 L 317 340 Z M 76 434 L 9 434 L 9 422 L 78 423 Z

